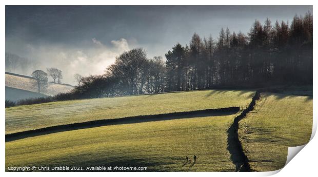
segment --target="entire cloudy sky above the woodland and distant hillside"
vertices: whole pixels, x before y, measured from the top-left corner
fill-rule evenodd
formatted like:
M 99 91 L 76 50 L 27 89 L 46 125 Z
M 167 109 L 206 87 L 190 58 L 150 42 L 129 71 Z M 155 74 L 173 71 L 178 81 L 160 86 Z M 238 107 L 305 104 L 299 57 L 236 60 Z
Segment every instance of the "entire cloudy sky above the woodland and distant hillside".
M 215 39 L 222 27 L 247 33 L 255 19 L 291 22 L 308 11 L 312 6 L 6 6 L 6 52 L 39 63 L 32 69 L 59 68 L 63 82 L 74 84 L 75 73 L 103 74 L 129 49 L 165 58 L 194 32 Z

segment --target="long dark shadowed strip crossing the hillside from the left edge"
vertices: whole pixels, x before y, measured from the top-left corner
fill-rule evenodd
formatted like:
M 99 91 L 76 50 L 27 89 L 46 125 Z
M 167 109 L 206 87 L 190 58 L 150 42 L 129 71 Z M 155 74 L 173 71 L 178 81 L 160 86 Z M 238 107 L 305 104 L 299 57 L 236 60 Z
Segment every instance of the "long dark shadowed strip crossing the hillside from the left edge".
M 134 124 L 142 122 L 152 122 L 152 121 L 166 121 L 174 119 L 187 119 L 192 117 L 207 117 L 207 116 L 222 116 L 222 115 L 231 115 L 240 111 L 240 107 L 229 107 L 229 108 L 219 108 L 219 109 L 205 109 L 205 110 L 196 110 L 196 111 L 187 111 L 187 112 L 173 112 L 165 114 L 155 114 L 155 115 L 138 115 L 131 117 L 123 117 L 118 119 L 105 119 L 105 120 L 96 120 L 82 123 L 66 124 L 66 125 L 57 125 L 52 127 L 45 127 L 36 130 L 28 130 L 17 133 L 6 134 L 6 142 L 24 139 L 26 137 L 62 132 L 62 131 L 71 131 L 84 128 L 93 128 L 106 125 L 118 125 L 118 124 Z

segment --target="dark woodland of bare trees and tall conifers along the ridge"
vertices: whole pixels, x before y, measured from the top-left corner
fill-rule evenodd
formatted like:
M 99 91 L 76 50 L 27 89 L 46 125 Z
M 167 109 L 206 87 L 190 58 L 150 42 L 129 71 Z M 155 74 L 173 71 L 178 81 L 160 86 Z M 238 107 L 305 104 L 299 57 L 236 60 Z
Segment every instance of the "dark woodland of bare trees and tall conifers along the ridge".
M 312 85 L 313 16 L 292 22 L 257 20 L 247 34 L 222 28 L 218 36 L 194 33 L 162 57 L 148 59 L 138 48 L 116 57 L 104 75 L 82 77 L 70 93 L 38 102 L 182 90 Z M 36 99 L 19 104 L 37 103 Z

